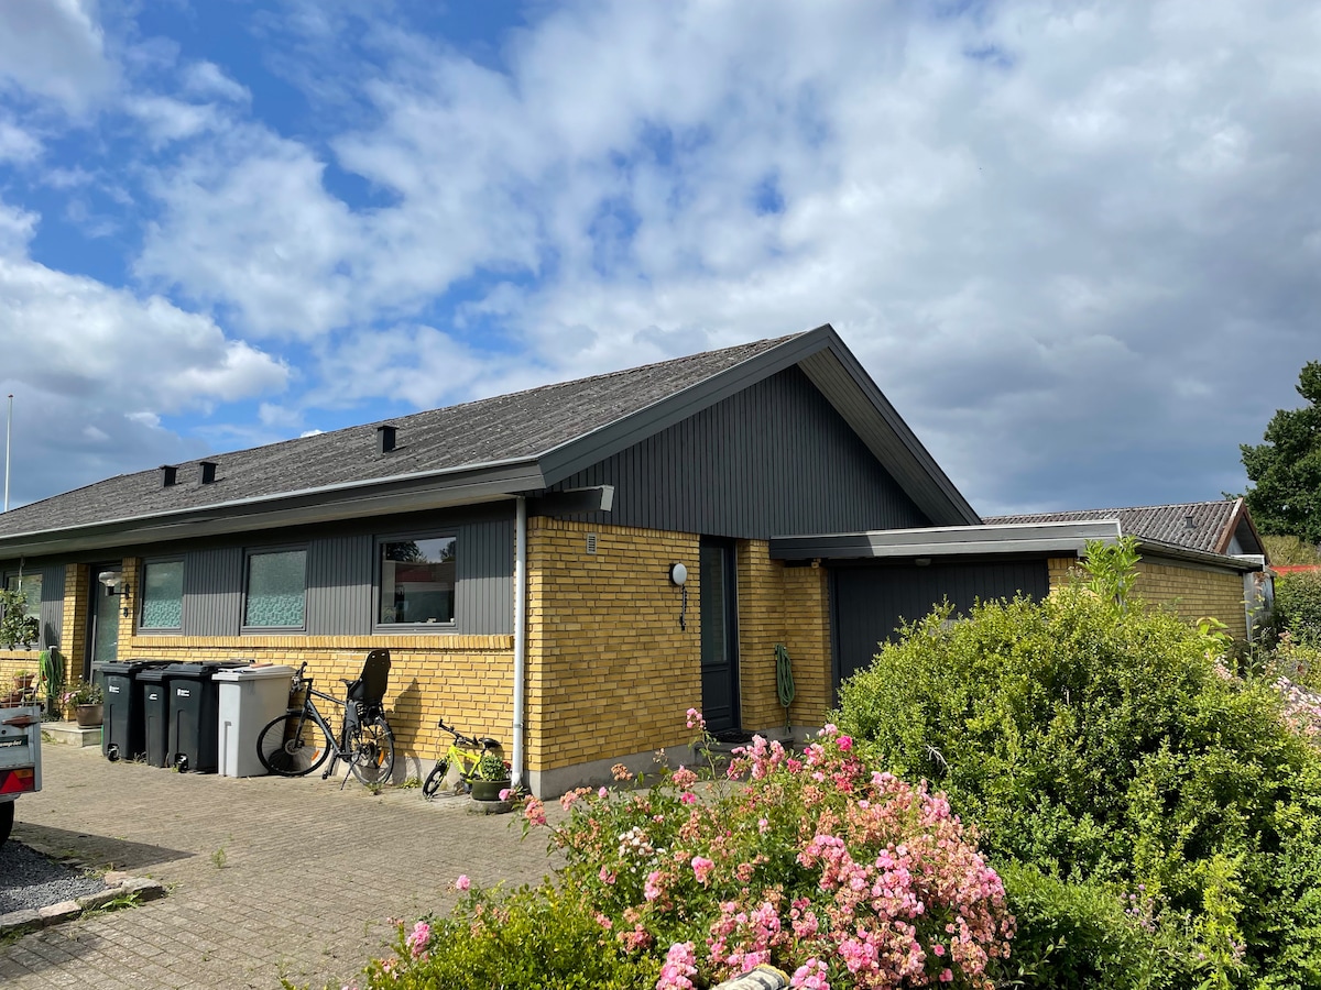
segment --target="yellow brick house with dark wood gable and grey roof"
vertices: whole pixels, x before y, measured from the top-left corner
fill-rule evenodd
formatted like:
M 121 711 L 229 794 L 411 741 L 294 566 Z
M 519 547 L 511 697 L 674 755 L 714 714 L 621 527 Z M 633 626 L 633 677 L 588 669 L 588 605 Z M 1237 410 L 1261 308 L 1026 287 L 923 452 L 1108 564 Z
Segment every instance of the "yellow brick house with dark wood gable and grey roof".
M 98 482 L 0 515 L 0 576 L 73 676 L 250 657 L 337 684 L 386 645 L 396 772 L 445 748 L 444 715 L 548 796 L 687 743 L 690 706 L 819 725 L 889 632 L 856 616 L 876 574 L 958 598 L 996 557 L 1017 570 L 978 587 L 1040 593 L 1083 531 L 1116 532 L 1057 525 L 1034 570 L 956 536 L 1049 527 L 985 527 L 827 325 Z

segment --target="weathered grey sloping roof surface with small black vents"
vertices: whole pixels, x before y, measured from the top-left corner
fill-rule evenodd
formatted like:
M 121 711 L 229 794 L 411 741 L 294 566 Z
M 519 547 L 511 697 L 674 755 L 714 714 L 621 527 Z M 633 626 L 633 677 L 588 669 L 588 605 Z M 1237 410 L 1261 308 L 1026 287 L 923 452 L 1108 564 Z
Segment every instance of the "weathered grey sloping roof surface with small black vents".
M 162 487 L 159 469 L 118 475 L 0 513 L 0 536 L 534 458 L 799 335 L 213 454 L 180 463 L 178 483 L 172 487 Z M 388 454 L 376 453 L 376 426 L 382 424 L 398 428 L 398 449 Z M 215 482 L 198 482 L 201 461 L 219 465 Z

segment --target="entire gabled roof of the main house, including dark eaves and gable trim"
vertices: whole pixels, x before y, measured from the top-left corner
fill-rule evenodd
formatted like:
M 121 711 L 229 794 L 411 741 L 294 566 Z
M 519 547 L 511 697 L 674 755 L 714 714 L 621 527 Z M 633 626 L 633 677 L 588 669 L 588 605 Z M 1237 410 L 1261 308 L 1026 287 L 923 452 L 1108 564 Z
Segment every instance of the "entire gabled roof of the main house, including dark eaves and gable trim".
M 470 504 L 544 490 L 798 366 L 935 524 L 976 513 L 830 325 L 119 475 L 0 513 L 0 557 Z M 392 425 L 396 449 L 378 451 Z

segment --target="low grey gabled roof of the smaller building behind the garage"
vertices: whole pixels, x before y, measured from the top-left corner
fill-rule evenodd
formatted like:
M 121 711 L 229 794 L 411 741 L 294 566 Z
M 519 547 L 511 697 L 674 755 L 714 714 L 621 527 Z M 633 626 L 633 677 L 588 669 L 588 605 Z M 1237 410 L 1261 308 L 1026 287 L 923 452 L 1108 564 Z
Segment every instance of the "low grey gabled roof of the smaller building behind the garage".
M 1262 554 L 1262 539 L 1252 525 L 1243 499 L 1182 502 L 1173 506 L 1132 506 L 1091 508 L 1069 512 L 1029 512 L 987 516 L 985 523 L 1081 523 L 1118 519 L 1124 533 L 1205 553 L 1230 553 L 1238 539 L 1238 553 Z

